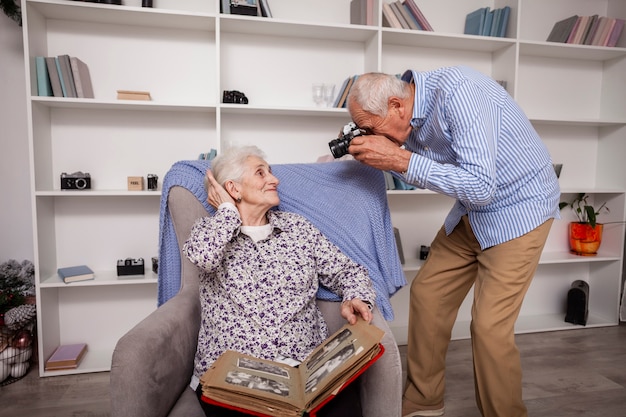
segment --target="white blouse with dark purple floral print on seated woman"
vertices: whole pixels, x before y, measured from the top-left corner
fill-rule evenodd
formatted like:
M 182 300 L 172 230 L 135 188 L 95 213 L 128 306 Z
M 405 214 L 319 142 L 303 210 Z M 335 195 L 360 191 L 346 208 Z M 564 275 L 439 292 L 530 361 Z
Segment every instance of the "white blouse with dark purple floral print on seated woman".
M 270 235 L 240 233 L 239 213 L 220 207 L 194 224 L 183 253 L 201 269 L 202 321 L 194 376 L 225 350 L 302 361 L 328 337 L 315 304 L 319 285 L 344 301 L 373 302 L 367 269 L 299 214 L 268 212 Z

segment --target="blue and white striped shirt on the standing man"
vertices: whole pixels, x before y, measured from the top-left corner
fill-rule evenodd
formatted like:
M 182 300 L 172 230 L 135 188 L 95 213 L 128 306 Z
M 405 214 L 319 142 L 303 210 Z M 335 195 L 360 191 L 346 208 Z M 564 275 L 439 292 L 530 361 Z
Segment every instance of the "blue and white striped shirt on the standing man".
M 467 67 L 409 70 L 402 79 L 415 84 L 403 179 L 456 199 L 447 234 L 467 214 L 486 249 L 559 218 L 550 154 L 498 83 Z

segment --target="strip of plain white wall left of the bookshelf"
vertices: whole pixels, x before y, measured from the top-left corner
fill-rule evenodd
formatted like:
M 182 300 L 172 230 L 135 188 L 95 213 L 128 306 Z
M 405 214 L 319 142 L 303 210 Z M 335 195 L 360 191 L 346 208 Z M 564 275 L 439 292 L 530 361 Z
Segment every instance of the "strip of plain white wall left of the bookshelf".
M 0 263 L 33 260 L 22 28 L 0 13 Z

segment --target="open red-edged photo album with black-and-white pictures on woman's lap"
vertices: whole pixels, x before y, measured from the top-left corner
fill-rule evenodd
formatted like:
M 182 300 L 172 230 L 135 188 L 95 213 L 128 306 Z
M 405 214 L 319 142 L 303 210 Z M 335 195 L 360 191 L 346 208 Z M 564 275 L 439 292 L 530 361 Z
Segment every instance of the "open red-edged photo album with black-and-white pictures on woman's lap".
M 346 323 L 298 366 L 224 352 L 200 378 L 202 400 L 261 416 L 315 416 L 384 352 L 384 332 Z

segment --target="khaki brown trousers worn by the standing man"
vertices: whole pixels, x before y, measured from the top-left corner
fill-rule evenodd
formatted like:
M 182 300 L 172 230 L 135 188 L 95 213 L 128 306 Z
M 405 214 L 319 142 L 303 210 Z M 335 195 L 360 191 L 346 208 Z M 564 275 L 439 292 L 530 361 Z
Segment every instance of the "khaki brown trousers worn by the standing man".
M 485 417 L 527 415 L 514 325 L 551 225 L 552 219 L 484 251 L 467 216 L 450 236 L 439 231 L 411 284 L 406 399 L 443 406 L 452 326 L 474 285 L 470 330 L 478 408 Z

